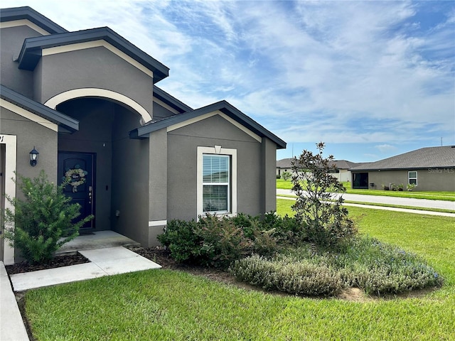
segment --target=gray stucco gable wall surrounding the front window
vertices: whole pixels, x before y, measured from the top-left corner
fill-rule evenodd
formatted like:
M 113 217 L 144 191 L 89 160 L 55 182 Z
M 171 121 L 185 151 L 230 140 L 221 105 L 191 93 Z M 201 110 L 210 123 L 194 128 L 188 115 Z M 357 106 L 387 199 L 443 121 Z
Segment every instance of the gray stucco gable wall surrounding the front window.
M 217 115 L 168 133 L 168 220 L 196 218 L 197 147 L 215 145 L 237 149 L 237 212 L 262 211 L 261 144 Z

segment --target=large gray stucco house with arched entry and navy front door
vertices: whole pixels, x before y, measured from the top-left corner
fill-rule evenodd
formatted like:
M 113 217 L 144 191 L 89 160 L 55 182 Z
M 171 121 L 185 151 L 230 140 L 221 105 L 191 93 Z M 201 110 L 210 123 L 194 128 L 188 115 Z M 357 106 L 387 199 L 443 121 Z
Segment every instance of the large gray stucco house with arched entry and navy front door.
M 282 139 L 228 102 L 192 109 L 159 89 L 168 67 L 110 28 L 68 32 L 30 7 L 0 14 L 0 208 L 14 172 L 71 177 L 66 193 L 95 215 L 82 232 L 146 247 L 172 219 L 276 209 Z

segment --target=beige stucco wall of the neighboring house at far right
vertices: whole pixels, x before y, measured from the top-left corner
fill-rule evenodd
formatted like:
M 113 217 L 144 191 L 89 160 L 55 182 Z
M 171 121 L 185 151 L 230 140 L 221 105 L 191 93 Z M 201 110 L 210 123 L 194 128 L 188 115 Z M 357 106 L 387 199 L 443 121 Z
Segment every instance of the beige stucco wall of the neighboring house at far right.
M 455 168 L 426 168 L 409 171 L 417 171 L 417 188 L 415 190 L 455 191 Z M 395 183 L 399 185 L 408 183 L 406 171 L 370 171 L 368 172 L 368 183 L 375 183 L 376 190 L 382 190 L 382 184 Z

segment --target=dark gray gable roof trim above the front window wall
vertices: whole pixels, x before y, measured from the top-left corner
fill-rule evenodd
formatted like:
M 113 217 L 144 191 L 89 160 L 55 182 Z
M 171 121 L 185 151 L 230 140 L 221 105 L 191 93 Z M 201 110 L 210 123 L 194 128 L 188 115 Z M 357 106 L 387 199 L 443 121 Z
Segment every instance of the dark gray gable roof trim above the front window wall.
M 202 107 L 200 109 L 193 110 L 192 112 L 186 112 L 184 114 L 178 114 L 176 116 L 168 117 L 166 119 L 161 119 L 160 121 L 151 121 L 149 124 L 141 126 L 137 129 L 134 129 L 129 132 L 129 137 L 131 139 L 146 139 L 147 135 L 152 133 L 153 131 L 157 131 L 173 124 L 178 124 L 183 121 L 187 121 L 188 119 L 193 119 L 195 117 L 199 117 L 203 114 L 209 114 L 210 112 L 215 112 L 219 110 L 223 112 L 223 114 L 228 115 L 231 119 L 242 124 L 247 129 L 250 129 L 255 134 L 261 137 L 267 137 L 268 139 L 274 141 L 277 144 L 279 149 L 286 148 L 286 142 L 282 139 L 279 139 L 278 136 L 272 134 L 272 132 L 265 129 L 263 126 L 258 124 L 256 121 L 247 117 L 247 115 L 240 112 L 239 109 L 235 108 L 231 104 L 226 101 L 220 101 L 213 104 L 210 104 L 206 107 Z

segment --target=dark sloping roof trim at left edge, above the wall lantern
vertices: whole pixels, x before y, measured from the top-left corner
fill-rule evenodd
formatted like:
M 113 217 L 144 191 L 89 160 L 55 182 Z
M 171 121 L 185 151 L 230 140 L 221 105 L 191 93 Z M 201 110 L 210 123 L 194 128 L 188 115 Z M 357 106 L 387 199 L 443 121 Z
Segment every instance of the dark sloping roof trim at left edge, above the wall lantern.
M 0 85 L 0 98 L 57 124 L 60 132 L 74 132 L 79 130 L 79 121 L 50 109 L 41 103 L 35 102 L 33 99 L 29 99 L 4 85 Z

